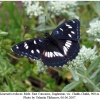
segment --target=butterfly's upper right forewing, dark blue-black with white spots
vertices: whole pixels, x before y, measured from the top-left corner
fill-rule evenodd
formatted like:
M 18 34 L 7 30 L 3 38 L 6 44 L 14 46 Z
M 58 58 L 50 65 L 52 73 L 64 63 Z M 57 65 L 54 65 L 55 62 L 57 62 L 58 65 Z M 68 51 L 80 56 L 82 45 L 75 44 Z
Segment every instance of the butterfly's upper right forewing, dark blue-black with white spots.
M 80 38 L 80 22 L 77 19 L 65 21 L 51 34 L 58 39 L 78 40 Z

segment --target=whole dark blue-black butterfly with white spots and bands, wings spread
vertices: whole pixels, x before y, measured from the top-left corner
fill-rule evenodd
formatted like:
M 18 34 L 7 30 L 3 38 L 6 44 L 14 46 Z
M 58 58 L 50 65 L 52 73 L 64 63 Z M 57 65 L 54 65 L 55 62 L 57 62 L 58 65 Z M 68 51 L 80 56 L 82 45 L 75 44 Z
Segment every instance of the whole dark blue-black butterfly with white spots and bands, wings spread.
M 80 21 L 72 19 L 63 22 L 45 38 L 22 41 L 12 47 L 13 52 L 31 59 L 41 59 L 44 65 L 59 67 L 75 59 L 80 46 Z

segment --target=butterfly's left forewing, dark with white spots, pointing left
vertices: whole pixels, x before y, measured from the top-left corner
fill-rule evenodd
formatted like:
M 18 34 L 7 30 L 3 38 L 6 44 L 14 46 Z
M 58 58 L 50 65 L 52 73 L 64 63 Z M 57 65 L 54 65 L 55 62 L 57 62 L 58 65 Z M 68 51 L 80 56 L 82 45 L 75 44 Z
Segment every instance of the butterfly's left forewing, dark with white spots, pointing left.
M 12 47 L 12 50 L 22 56 L 38 60 L 44 50 L 44 39 L 31 39 L 20 42 Z

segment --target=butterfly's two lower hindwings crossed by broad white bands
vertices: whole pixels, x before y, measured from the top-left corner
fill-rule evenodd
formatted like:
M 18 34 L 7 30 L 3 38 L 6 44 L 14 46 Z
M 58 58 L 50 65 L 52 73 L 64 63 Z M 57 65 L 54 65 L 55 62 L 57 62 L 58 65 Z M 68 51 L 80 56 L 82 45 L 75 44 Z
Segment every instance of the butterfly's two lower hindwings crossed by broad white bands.
M 42 55 L 42 61 L 47 66 L 63 66 L 68 61 L 74 59 L 79 52 L 79 43 L 71 40 L 58 40 L 60 49 L 49 44 Z

